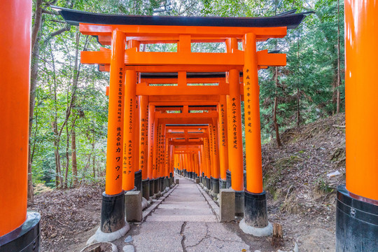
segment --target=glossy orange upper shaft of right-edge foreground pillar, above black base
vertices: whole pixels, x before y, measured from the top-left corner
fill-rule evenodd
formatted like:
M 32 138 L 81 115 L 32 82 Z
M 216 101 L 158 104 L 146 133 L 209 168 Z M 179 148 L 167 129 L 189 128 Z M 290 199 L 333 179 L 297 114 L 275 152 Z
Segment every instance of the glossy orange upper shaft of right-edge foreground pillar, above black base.
M 378 200 L 378 6 L 345 1 L 346 189 Z

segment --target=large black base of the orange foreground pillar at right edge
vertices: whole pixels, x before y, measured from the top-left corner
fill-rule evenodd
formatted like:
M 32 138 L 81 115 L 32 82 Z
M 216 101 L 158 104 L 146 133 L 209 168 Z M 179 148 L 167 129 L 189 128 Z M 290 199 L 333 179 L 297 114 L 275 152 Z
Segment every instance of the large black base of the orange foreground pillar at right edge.
M 336 251 L 378 250 L 378 201 L 337 188 Z

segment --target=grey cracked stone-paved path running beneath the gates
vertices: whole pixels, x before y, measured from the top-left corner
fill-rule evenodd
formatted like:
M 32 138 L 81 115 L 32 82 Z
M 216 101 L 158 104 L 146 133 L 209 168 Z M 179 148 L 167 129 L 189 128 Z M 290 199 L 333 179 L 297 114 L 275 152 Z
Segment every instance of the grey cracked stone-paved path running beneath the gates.
M 180 179 L 133 239 L 137 252 L 249 251 L 238 235 L 218 223 L 197 185 L 188 179 Z

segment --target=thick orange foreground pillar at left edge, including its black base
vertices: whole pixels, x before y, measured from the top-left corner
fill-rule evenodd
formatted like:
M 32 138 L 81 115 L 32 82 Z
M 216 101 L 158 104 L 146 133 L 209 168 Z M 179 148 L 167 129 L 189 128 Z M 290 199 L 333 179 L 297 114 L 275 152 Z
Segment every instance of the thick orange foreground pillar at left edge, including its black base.
M 0 251 L 39 251 L 41 216 L 27 212 L 31 6 L 0 8 Z

